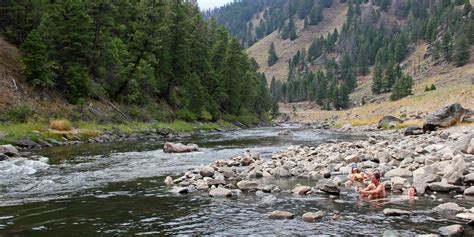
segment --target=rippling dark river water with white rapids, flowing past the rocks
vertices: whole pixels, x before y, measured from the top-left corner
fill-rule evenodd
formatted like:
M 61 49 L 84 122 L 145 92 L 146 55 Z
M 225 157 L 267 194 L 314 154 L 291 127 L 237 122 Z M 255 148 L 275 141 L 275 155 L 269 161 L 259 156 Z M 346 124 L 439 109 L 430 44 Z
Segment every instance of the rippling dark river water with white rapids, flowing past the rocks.
M 286 128 L 258 128 L 196 135 L 182 142 L 197 143 L 200 152 L 165 154 L 162 142 L 126 142 L 54 147 L 30 154 L 30 159 L 0 162 L 0 236 L 141 236 L 141 235 L 403 235 L 436 233 L 450 224 L 464 224 L 454 214 L 431 209 L 447 201 L 471 208 L 472 199 L 421 197 L 403 200 L 392 194 L 384 202 L 359 200 L 352 190 L 337 198 L 243 193 L 238 198 L 210 198 L 207 193 L 177 195 L 163 184 L 167 175 L 214 160 L 241 155 L 245 150 L 269 158 L 289 145 L 317 146 L 328 140 L 365 139 L 324 130 L 289 127 L 294 136 L 276 134 Z M 266 180 L 282 189 L 309 180 Z M 384 208 L 412 210 L 410 217 L 383 215 Z M 268 214 L 286 210 L 293 220 L 271 220 Z M 322 210 L 326 217 L 306 223 L 301 215 Z M 334 213 L 337 220 L 332 220 Z M 388 232 L 386 232 L 388 231 Z M 393 233 L 393 232 L 390 232 Z M 465 234 L 473 235 L 472 229 Z

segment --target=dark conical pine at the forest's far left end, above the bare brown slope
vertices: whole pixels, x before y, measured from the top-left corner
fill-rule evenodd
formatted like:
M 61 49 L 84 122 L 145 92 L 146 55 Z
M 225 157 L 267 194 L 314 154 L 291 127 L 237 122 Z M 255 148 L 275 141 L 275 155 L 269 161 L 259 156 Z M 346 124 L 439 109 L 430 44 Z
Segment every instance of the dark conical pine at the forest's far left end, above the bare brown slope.
M 21 45 L 24 75 L 33 86 L 53 87 L 54 80 L 48 61 L 48 50 L 37 30 L 30 32 Z

